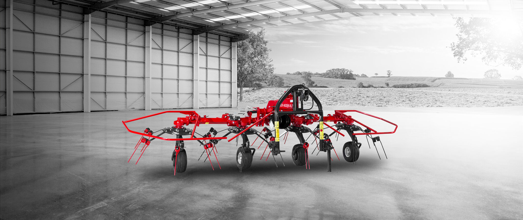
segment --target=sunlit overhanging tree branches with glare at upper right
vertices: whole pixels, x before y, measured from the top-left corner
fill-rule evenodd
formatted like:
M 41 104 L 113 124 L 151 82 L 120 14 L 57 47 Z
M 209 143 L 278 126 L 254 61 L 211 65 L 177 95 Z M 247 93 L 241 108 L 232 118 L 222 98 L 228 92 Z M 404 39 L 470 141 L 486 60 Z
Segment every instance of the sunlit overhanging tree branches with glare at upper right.
M 515 70 L 523 65 L 523 21 L 501 18 L 454 18 L 458 42 L 450 44 L 458 62 L 465 55 L 481 55 L 485 64 L 506 65 Z

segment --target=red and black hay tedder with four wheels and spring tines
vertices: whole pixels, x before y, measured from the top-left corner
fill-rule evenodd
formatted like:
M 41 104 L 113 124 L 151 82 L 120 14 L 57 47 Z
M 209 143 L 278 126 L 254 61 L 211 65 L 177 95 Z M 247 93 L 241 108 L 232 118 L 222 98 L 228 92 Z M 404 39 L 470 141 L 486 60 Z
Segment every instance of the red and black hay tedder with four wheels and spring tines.
M 304 109 L 304 102 L 308 103 L 308 101 L 312 99 L 312 105 L 306 106 L 308 108 Z M 269 157 L 269 155 L 272 155 L 272 157 L 275 160 L 278 154 L 280 155 L 282 161 L 283 157 L 281 156 L 281 153 L 285 152 L 283 150 L 280 150 L 281 143 L 280 138 L 283 137 L 285 139 L 284 144 L 286 142 L 286 139 L 289 135 L 289 133 L 295 133 L 295 135 L 298 137 L 298 140 L 300 141 L 299 144 L 295 144 L 292 146 L 291 150 L 291 157 L 292 162 L 295 165 L 307 167 L 309 162 L 309 146 L 310 144 L 307 142 L 307 140 L 312 136 L 314 138 L 314 141 L 311 141 L 312 144 L 316 144 L 314 146 L 314 150 L 311 152 L 314 153 L 315 150 L 318 150 L 317 154 L 320 152 L 326 152 L 327 153 L 327 172 L 331 172 L 331 150 L 334 150 L 333 144 L 332 144 L 332 137 L 334 135 L 341 135 L 345 136 L 340 130 L 345 130 L 348 133 L 348 136 L 350 137 L 350 141 L 346 142 L 343 145 L 343 157 L 347 162 L 356 162 L 359 157 L 359 148 L 361 147 L 361 143 L 358 142 L 357 136 L 358 135 L 365 135 L 367 137 L 367 142 L 369 144 L 370 148 L 370 138 L 372 140 L 372 143 L 374 144 L 374 148 L 376 148 L 376 151 L 378 152 L 378 149 L 376 147 L 376 142 L 380 141 L 380 137 L 372 137 L 372 135 L 380 135 L 380 134 L 387 134 L 387 133 L 394 133 L 397 129 L 397 125 L 394 123 L 391 123 L 388 120 L 385 120 L 383 118 L 379 118 L 367 113 L 363 113 L 356 110 L 336 110 L 334 112 L 334 115 L 328 114 L 326 116 L 323 115 L 323 108 L 322 104 L 320 103 L 320 100 L 317 99 L 317 97 L 312 93 L 309 88 L 307 88 L 304 84 L 302 85 L 293 85 L 290 89 L 288 89 L 285 94 L 283 94 L 279 100 L 272 100 L 269 101 L 267 104 L 267 107 L 265 108 L 259 108 L 254 107 L 250 108 L 251 111 L 246 111 L 246 113 L 242 113 L 242 116 L 239 115 L 233 115 L 229 113 L 225 113 L 222 115 L 222 117 L 219 118 L 211 118 L 207 116 L 200 116 L 195 111 L 165 111 L 161 113 L 156 113 L 152 115 L 147 115 L 140 118 L 135 118 L 131 120 L 122 121 L 123 125 L 126 127 L 126 129 L 129 132 L 135 133 L 137 135 L 141 135 L 142 137 L 138 141 L 138 143 L 134 147 L 134 152 L 131 155 L 132 156 L 136 153 L 136 151 L 142 146 L 140 157 L 138 158 L 137 162 L 140 160 L 141 156 L 143 155 L 143 152 L 146 150 L 147 146 L 151 143 L 151 141 L 155 139 L 161 139 L 166 141 L 176 141 L 173 154 L 171 156 L 171 160 L 173 162 L 173 168 L 175 175 L 176 173 L 182 173 L 185 172 L 187 168 L 187 153 L 185 151 L 185 145 L 184 141 L 188 140 L 195 140 L 200 143 L 200 146 L 203 146 L 203 152 L 200 155 L 200 158 L 205 153 L 206 158 L 204 161 L 209 160 L 211 163 L 211 167 L 213 167 L 211 158 L 214 154 L 214 157 L 216 158 L 218 162 L 217 152 L 218 150 L 215 150 L 215 146 L 219 143 L 219 141 L 228 139 L 228 136 L 231 133 L 234 133 L 235 135 L 228 139 L 227 141 L 232 141 L 234 139 L 237 140 L 238 136 L 241 136 L 242 138 L 242 144 L 236 151 L 236 165 L 241 170 L 248 169 L 251 167 L 254 153 L 256 152 L 255 148 L 251 148 L 251 143 L 249 141 L 248 136 L 256 136 L 256 140 L 259 138 L 262 143 L 266 143 L 265 151 L 261 155 L 260 159 L 264 158 L 264 155 L 267 151 L 267 148 L 269 148 L 269 152 L 267 154 L 266 161 Z M 369 126 L 366 126 L 365 124 L 362 124 L 361 122 L 354 119 L 352 116 L 347 115 L 347 112 L 356 112 L 364 115 L 368 115 L 374 118 L 381 119 L 385 121 L 386 123 L 389 123 L 391 125 L 394 125 L 395 128 L 393 131 L 389 132 L 378 132 Z M 174 125 L 170 127 L 166 127 L 163 129 L 160 129 L 158 131 L 152 131 L 149 128 L 146 128 L 144 132 L 138 132 L 130 130 L 127 127 L 127 123 L 130 123 L 131 121 L 136 121 L 160 114 L 165 113 L 181 113 L 184 115 L 187 115 L 186 117 L 178 117 L 174 121 Z M 246 114 L 246 115 L 245 115 Z M 256 115 L 256 116 L 254 116 Z M 334 123 L 334 126 L 330 126 L 328 123 Z M 312 125 L 314 123 L 317 123 L 317 126 L 314 129 L 310 129 L 306 126 Z M 198 132 L 196 132 L 196 127 L 200 125 L 208 125 L 208 124 L 226 124 L 229 126 L 229 128 L 217 131 L 214 128 L 210 128 L 209 132 L 205 133 L 204 135 L 200 135 Z M 358 125 L 356 125 L 358 124 Z M 192 129 L 187 128 L 185 126 L 194 125 Z M 257 131 L 253 127 L 263 127 L 261 132 Z M 270 127 L 266 127 L 270 126 Z M 362 129 L 361 127 L 364 127 L 365 129 Z M 274 129 L 271 129 L 274 128 Z M 327 133 L 324 129 L 331 129 L 331 133 Z M 280 129 L 284 129 L 285 133 L 280 135 Z M 226 131 L 225 135 L 218 136 L 218 133 Z M 330 130 L 329 130 L 330 131 Z M 159 133 L 158 133 L 159 132 Z M 157 135 L 154 135 L 155 133 L 158 133 Z M 165 133 L 169 135 L 174 135 L 174 138 L 164 138 L 160 137 L 164 135 Z M 309 137 L 307 139 L 304 138 L 304 134 L 309 134 Z M 196 136 L 198 137 L 196 137 Z M 254 142 L 256 142 L 256 140 Z M 253 144 L 254 144 L 253 142 Z M 261 144 L 258 146 L 261 146 Z M 383 149 L 383 144 L 381 144 Z M 384 151 L 384 149 L 383 149 Z M 212 152 L 212 154 L 211 154 Z M 336 151 L 334 150 L 336 153 Z M 317 155 L 316 154 L 316 155 Z M 138 155 L 138 154 L 137 154 Z M 337 153 L 336 153 L 337 156 Z M 378 153 L 379 156 L 379 153 Z M 386 153 L 385 153 L 386 157 Z M 131 160 L 129 158 L 129 161 Z M 381 159 L 381 157 L 380 157 Z M 200 160 L 200 159 L 198 159 Z M 338 157 L 339 160 L 339 157 Z M 128 162 L 129 162 L 128 161 Z M 284 164 L 285 165 L 285 162 Z M 218 162 L 218 166 L 221 168 L 220 163 Z M 276 163 L 276 166 L 278 164 Z M 310 169 L 310 163 L 309 167 Z M 214 167 L 213 167 L 214 169 Z

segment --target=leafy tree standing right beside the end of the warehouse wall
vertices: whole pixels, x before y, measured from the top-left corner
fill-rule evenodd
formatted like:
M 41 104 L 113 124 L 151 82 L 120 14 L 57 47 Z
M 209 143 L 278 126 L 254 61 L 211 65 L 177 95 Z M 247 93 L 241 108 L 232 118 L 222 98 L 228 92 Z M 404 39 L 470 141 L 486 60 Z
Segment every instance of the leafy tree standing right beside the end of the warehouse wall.
M 269 58 L 270 49 L 264 39 L 265 29 L 259 32 L 249 30 L 249 38 L 237 44 L 237 84 L 240 87 L 240 102 L 243 100 L 243 88 L 256 82 L 268 82 L 274 67 Z

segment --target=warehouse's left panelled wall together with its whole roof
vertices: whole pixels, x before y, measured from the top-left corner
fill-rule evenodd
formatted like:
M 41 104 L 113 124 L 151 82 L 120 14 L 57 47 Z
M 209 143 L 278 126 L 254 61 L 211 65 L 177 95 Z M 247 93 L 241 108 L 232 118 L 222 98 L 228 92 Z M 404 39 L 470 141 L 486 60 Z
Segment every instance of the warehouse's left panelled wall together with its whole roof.
M 521 1 L 7 0 L 0 115 L 235 107 L 248 29 L 359 16 L 491 16 Z

